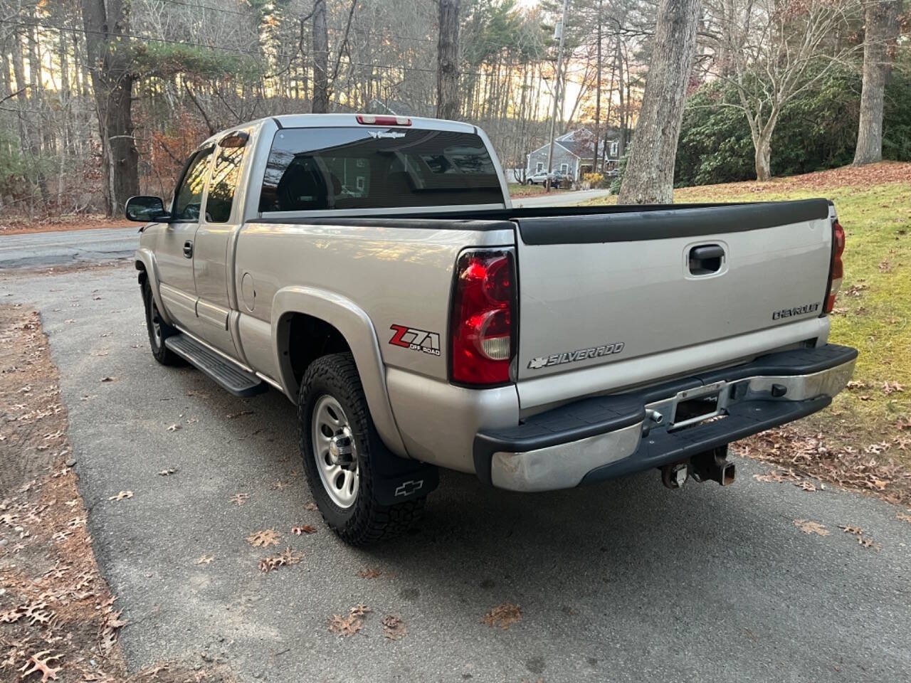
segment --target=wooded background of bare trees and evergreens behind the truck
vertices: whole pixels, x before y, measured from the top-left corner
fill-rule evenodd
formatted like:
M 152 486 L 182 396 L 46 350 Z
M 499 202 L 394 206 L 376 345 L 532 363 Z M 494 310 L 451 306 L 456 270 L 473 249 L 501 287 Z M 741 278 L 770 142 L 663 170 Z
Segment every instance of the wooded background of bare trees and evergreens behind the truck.
M 140 190 L 168 197 L 210 133 L 284 113 L 459 118 L 524 168 L 548 142 L 561 5 L 0 0 L 0 214 L 117 214 Z M 619 131 L 622 153 L 650 74 L 658 84 L 681 60 L 656 46 L 689 31 L 691 64 L 661 81 L 679 81 L 680 97 L 635 131 L 661 139 L 639 148 L 653 165 L 670 158 L 665 186 L 909 159 L 908 23 L 898 0 L 571 0 L 557 134 Z M 655 129 L 668 111 L 679 142 Z

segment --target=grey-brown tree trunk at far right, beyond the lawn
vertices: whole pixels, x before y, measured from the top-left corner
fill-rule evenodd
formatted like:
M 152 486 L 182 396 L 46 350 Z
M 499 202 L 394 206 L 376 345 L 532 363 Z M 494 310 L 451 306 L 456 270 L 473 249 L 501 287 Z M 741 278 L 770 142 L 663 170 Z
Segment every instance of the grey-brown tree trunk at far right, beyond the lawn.
M 868 2 L 864 11 L 864 87 L 860 96 L 855 166 L 883 158 L 883 98 L 898 37 L 901 0 Z

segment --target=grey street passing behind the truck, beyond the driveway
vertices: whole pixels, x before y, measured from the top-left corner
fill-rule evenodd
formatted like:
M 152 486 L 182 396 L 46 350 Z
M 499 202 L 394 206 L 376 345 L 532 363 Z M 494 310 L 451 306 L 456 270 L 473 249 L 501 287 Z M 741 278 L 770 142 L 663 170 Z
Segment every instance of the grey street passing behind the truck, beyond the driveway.
M 515 199 L 517 207 L 568 206 L 607 197 L 605 189 L 555 192 Z M 89 265 L 128 259 L 138 245 L 137 227 L 59 230 L 0 237 L 0 270 Z

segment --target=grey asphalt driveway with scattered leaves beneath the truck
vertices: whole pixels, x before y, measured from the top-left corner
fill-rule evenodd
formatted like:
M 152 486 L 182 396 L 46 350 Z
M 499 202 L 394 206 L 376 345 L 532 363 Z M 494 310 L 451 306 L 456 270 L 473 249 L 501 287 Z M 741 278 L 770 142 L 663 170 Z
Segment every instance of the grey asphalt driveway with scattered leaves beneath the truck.
M 445 474 L 419 533 L 355 550 L 304 508 L 292 404 L 157 365 L 132 270 L 11 278 L 0 301 L 42 311 L 131 670 L 223 658 L 241 681 L 908 679 L 911 525 L 893 506 L 760 483 L 751 461 L 731 487 L 679 492 L 657 473 L 535 495 Z M 122 490 L 133 498 L 109 500 Z M 318 532 L 290 534 L 302 524 Z M 261 574 L 266 552 L 244 539 L 267 528 L 282 534 L 269 552 L 291 545 L 300 564 Z M 481 623 L 505 602 L 520 623 Z M 327 618 L 358 603 L 374 609 L 363 631 L 333 636 Z M 388 614 L 403 640 L 383 637 Z

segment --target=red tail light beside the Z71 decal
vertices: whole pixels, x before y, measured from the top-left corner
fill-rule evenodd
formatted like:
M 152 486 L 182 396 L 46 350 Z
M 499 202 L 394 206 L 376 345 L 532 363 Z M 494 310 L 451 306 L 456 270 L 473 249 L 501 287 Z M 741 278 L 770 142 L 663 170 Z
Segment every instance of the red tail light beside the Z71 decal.
M 449 317 L 453 382 L 509 382 L 509 363 L 516 352 L 516 309 L 512 253 L 469 251 L 459 258 Z

